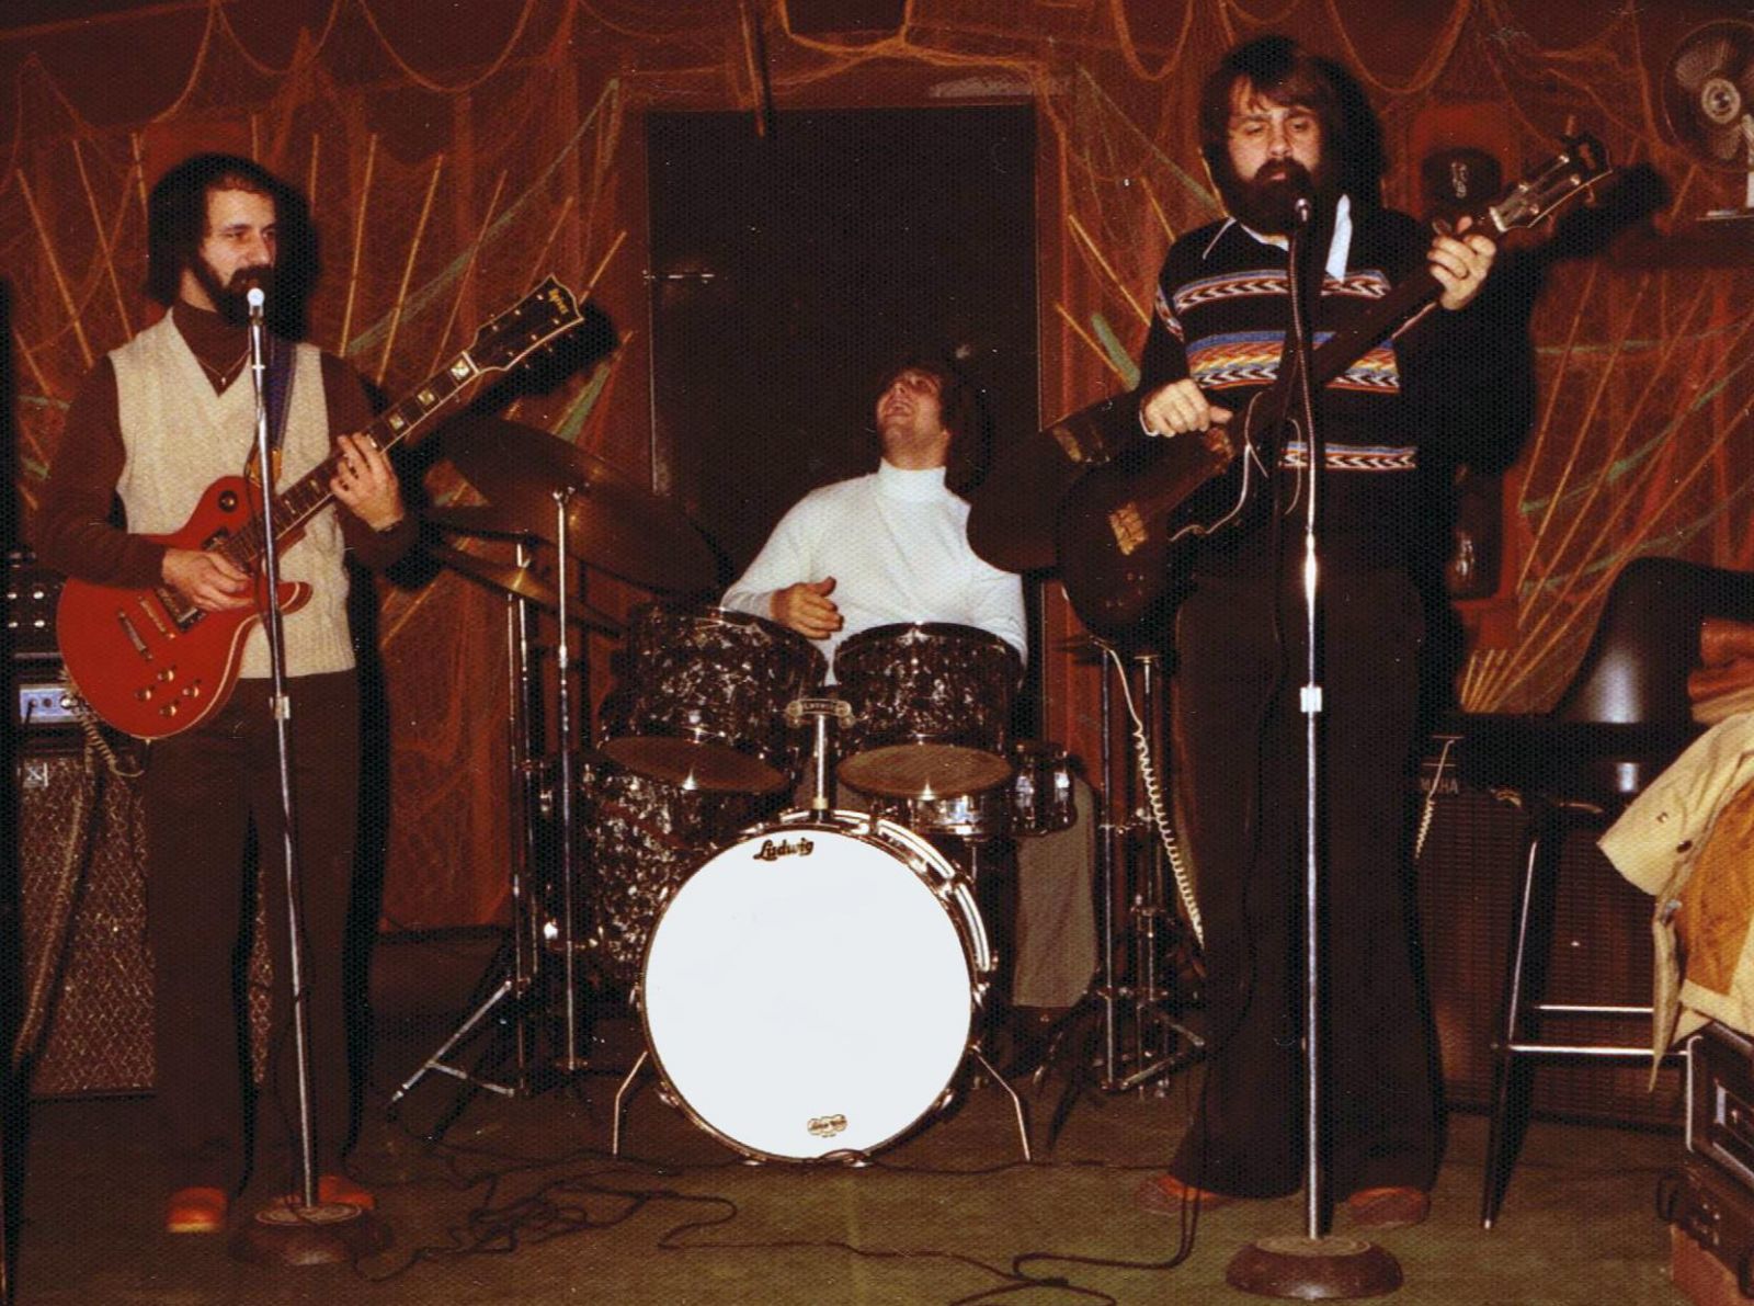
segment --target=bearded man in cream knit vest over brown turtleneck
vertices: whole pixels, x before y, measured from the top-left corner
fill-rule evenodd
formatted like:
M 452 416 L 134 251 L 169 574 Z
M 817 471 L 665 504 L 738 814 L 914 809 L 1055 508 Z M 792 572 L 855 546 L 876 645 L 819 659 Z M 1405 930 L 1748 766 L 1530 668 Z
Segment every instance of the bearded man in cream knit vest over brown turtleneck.
M 354 874 L 360 692 L 347 630 L 344 551 L 386 567 L 414 541 L 389 460 L 346 432 L 372 421 L 365 386 L 344 362 L 295 342 L 293 309 L 310 270 L 303 200 L 247 158 L 198 154 L 167 172 L 147 202 L 147 293 L 168 312 L 105 356 L 75 395 L 35 521 L 44 563 L 114 586 L 168 586 L 202 613 L 256 604 L 254 578 L 219 553 L 153 535 L 177 532 L 210 483 L 246 470 L 256 405 L 249 381 L 246 291 L 267 291 L 270 430 L 277 486 L 328 458 L 335 507 L 286 548 L 282 581 L 309 602 L 286 618 L 293 795 L 298 813 L 305 985 L 319 1201 L 370 1206 L 346 1178 L 349 1136 L 342 957 Z M 281 319 L 281 323 L 275 321 Z M 128 528 L 111 525 L 121 500 Z M 233 951 L 254 913 L 242 883 L 251 823 L 261 850 L 274 962 L 268 1092 L 258 1139 L 277 1155 L 256 1173 L 296 1187 L 282 1122 L 298 1118 L 286 957 L 281 793 L 268 651 L 256 625 L 232 697 L 188 730 L 149 744 L 142 799 L 147 936 L 153 944 L 156 1099 L 163 1127 L 168 1232 L 226 1227 L 249 1157 Z

